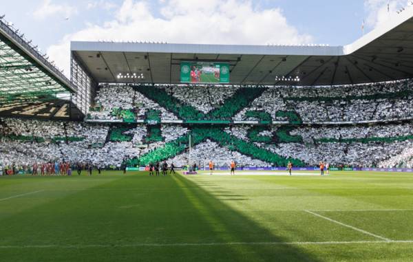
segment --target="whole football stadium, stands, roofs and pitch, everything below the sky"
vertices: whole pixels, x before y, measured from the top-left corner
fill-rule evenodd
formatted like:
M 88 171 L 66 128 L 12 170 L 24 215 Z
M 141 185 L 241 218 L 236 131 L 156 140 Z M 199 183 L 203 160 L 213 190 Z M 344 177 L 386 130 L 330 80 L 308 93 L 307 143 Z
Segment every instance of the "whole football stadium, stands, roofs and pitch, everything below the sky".
M 0 19 L 0 261 L 413 261 L 413 8 L 350 45 Z

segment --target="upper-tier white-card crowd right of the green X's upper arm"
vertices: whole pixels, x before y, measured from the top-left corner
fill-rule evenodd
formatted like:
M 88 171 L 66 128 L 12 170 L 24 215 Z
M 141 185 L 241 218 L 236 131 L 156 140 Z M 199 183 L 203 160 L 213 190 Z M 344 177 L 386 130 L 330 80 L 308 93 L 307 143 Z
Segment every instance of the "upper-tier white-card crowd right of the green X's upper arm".
M 335 87 L 268 87 L 234 120 L 248 120 L 247 111 L 295 111 L 303 122 L 359 122 L 412 119 L 412 80 Z

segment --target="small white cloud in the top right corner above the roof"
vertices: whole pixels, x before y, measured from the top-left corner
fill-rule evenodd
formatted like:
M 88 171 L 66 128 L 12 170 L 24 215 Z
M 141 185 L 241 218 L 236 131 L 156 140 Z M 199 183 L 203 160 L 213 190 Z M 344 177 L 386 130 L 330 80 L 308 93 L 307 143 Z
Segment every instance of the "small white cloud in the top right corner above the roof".
M 396 15 L 396 11 L 407 6 L 407 0 L 365 0 L 367 11 L 366 26 L 377 28 Z

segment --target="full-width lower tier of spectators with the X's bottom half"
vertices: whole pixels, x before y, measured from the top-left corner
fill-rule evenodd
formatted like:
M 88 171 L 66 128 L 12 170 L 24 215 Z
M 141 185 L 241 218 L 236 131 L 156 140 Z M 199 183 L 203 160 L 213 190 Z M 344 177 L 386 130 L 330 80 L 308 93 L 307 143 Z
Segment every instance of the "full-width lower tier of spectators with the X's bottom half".
M 0 164 L 413 167 L 413 124 L 92 124 L 0 118 Z M 191 151 L 189 147 L 191 145 Z

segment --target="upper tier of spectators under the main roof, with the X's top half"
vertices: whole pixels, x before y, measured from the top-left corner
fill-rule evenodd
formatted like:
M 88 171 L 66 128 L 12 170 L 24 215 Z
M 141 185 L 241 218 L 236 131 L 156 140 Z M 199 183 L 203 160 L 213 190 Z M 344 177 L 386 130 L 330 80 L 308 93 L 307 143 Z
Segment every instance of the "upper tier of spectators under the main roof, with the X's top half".
M 335 87 L 101 85 L 88 121 L 352 124 L 413 119 L 412 80 Z

